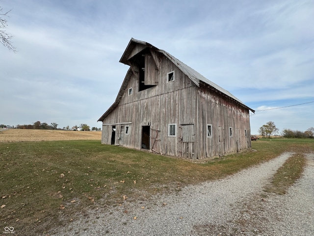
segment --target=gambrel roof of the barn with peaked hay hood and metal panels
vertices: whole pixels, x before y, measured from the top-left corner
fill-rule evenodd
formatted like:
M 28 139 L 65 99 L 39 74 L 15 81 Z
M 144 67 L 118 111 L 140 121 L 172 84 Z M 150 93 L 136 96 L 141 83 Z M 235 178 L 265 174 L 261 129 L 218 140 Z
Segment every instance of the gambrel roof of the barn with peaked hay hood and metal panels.
M 168 58 L 171 62 L 173 62 L 197 87 L 200 87 L 201 83 L 204 83 L 207 85 L 207 87 L 209 87 L 210 89 L 213 89 L 217 92 L 219 92 L 220 94 L 230 98 L 231 100 L 235 101 L 236 103 L 240 104 L 242 107 L 252 111 L 253 113 L 255 112 L 254 110 L 252 110 L 251 108 L 247 107 L 246 105 L 243 104 L 243 102 L 241 102 L 239 99 L 237 99 L 234 95 L 232 95 L 229 91 L 227 91 L 226 89 L 221 88 L 220 86 L 216 85 L 215 83 L 211 82 L 210 80 L 206 79 L 203 75 L 201 75 L 200 73 L 198 73 L 197 71 L 195 71 L 194 69 L 192 69 L 191 67 L 189 67 L 188 65 L 184 64 L 182 61 L 180 61 L 179 59 L 176 59 L 175 57 L 173 57 L 171 54 L 167 53 L 164 50 L 160 50 L 156 47 L 154 47 L 152 44 L 144 42 L 144 41 L 140 41 L 140 40 L 136 40 L 134 38 L 131 38 L 126 50 L 124 51 L 121 59 L 119 62 L 130 65 L 128 60 L 130 59 L 130 55 L 133 52 L 133 50 L 138 47 L 138 52 L 146 49 L 146 48 L 151 48 L 161 54 L 163 54 L 166 58 Z M 128 70 L 128 73 L 123 81 L 123 84 L 119 90 L 118 96 L 115 100 L 115 102 L 113 103 L 113 105 L 105 112 L 105 114 L 99 118 L 98 121 L 103 121 L 105 119 L 105 117 L 107 115 L 109 115 L 119 104 L 121 97 L 123 96 L 123 93 L 129 83 L 129 80 L 132 76 L 133 72 L 131 70 L 131 68 Z

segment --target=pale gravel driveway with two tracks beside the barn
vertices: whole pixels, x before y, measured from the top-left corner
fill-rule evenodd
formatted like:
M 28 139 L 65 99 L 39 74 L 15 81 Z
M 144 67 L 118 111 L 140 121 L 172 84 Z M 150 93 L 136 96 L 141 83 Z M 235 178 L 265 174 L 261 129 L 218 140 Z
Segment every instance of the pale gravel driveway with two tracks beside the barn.
M 285 195 L 262 198 L 262 187 L 293 153 L 231 177 L 112 209 L 95 209 L 49 235 L 295 236 L 314 234 L 314 153 Z M 136 218 L 134 218 L 136 217 Z

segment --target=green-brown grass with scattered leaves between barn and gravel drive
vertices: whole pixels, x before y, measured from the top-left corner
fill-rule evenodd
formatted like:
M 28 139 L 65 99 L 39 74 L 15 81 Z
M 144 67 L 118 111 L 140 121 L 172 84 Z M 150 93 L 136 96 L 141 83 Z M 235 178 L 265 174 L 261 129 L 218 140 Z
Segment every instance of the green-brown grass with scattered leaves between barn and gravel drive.
M 185 185 L 232 175 L 285 151 L 296 153 L 299 159 L 292 158 L 292 166 L 299 166 L 302 173 L 303 153 L 314 151 L 314 140 L 259 140 L 252 142 L 252 148 L 256 151 L 192 163 L 101 145 L 99 140 L 0 143 L 0 227 L 14 227 L 25 235 L 45 234 L 51 227 L 76 220 L 77 213 L 84 214 L 86 209 L 180 191 Z M 300 177 L 282 173 L 278 179 L 295 177 L 279 184 L 284 188 L 280 193 Z M 276 192 L 275 183 L 267 191 Z

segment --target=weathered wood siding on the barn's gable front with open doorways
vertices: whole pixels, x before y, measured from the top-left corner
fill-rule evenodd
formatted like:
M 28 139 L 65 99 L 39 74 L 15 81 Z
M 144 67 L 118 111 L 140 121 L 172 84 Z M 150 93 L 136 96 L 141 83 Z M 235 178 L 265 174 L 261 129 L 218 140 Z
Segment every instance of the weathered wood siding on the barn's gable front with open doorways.
M 155 63 L 153 60 L 149 61 Z M 147 65 L 146 68 L 148 67 L 155 68 L 155 64 Z M 172 71 L 175 73 L 175 80 L 168 82 L 167 74 Z M 138 91 L 138 79 L 136 75 L 132 75 L 118 107 L 103 121 L 102 143 L 111 143 L 112 125 L 128 123 L 130 134 L 128 140 L 124 139 L 123 146 L 140 149 L 142 126 L 149 125 L 150 144 L 154 146 L 150 147 L 151 149 L 162 154 L 181 156 L 181 124 L 195 122 L 197 88 L 166 58 L 160 61 L 159 70 L 153 74 L 157 76 L 158 86 L 142 91 Z M 131 95 L 128 92 L 130 88 L 132 88 Z M 169 124 L 177 124 L 176 137 L 168 137 Z M 118 125 L 116 130 L 116 137 L 119 137 Z M 122 145 L 119 140 L 115 144 Z

